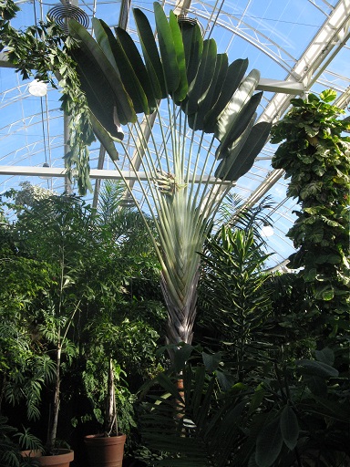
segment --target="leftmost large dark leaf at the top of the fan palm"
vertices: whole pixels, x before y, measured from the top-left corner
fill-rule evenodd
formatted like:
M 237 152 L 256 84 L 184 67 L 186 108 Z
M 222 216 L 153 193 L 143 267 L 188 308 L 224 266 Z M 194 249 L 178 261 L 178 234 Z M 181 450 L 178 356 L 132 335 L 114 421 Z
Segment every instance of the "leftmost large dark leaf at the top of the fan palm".
M 83 68 L 83 73 L 86 78 L 96 80 L 98 75 L 104 76 L 106 87 L 100 83 L 98 87 L 94 87 L 92 92 L 97 96 L 97 99 L 101 99 L 101 94 L 109 92 L 109 89 L 113 92 L 113 101 L 117 104 L 118 118 L 122 125 L 129 122 L 134 123 L 136 121 L 135 110 L 133 109 L 131 99 L 124 88 L 118 73 L 115 68 L 110 64 L 108 58 L 103 53 L 101 47 L 88 33 L 84 26 L 81 26 L 76 20 L 70 19 L 68 21 L 69 32 L 72 36 L 79 39 L 79 50 L 75 53 L 74 57 L 79 60 L 81 53 L 88 56 L 90 63 L 93 64 L 93 68 L 80 67 L 80 72 Z M 107 89 L 109 88 L 109 89 Z M 85 89 L 84 89 L 85 90 Z M 88 89 L 90 91 L 90 89 Z M 90 91 L 91 92 L 91 91 Z M 92 109 L 94 111 L 94 109 Z

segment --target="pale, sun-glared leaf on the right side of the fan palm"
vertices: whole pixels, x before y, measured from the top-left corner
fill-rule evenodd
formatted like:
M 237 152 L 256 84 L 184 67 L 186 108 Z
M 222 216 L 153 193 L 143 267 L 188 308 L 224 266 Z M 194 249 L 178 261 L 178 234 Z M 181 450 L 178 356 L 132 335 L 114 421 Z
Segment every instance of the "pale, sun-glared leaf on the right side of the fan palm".
M 233 94 L 225 109 L 221 111 L 214 131 L 215 137 L 223 142 L 229 131 L 240 118 L 240 111 L 248 104 L 252 94 L 259 83 L 260 73 L 252 69 L 247 78 L 244 78 L 240 87 Z

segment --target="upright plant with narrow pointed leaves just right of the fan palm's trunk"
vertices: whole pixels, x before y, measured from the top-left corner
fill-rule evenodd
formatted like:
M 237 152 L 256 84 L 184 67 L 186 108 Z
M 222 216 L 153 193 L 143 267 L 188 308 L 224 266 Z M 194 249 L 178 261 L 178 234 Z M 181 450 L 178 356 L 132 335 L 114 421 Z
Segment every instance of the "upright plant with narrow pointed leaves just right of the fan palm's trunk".
M 269 275 L 261 270 L 268 256 L 254 241 L 252 228 L 232 231 L 226 225 L 202 254 L 201 320 L 211 329 L 215 317 L 216 338 L 230 346 L 239 380 L 256 364 L 253 348 L 262 351 L 264 340 L 257 331 L 272 311 L 271 293 L 264 287 Z

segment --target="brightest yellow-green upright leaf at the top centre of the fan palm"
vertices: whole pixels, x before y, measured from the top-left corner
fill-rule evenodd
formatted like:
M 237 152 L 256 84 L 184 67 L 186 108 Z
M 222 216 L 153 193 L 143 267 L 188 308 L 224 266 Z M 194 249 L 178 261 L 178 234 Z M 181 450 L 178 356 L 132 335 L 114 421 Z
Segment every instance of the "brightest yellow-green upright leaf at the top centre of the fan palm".
M 172 95 L 172 99 L 176 104 L 179 104 L 187 96 L 187 91 L 189 89 L 189 84 L 187 82 L 187 71 L 186 71 L 186 59 L 185 51 L 183 47 L 182 35 L 178 23 L 177 17 L 172 11 L 170 11 L 169 18 L 170 29 L 174 41 L 174 47 L 176 52 L 176 57 L 178 61 L 179 73 L 180 73 L 180 82 L 179 88 L 177 88 Z

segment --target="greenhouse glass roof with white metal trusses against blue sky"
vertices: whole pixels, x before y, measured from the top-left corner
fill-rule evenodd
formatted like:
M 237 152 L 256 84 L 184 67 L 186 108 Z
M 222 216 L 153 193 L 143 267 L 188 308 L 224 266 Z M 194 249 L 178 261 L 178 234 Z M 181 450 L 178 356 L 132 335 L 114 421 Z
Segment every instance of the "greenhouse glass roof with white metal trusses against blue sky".
M 55 1 L 16 2 L 21 11 L 13 26 L 26 28 L 45 20 Z M 96 16 L 108 26 L 122 26 L 133 36 L 132 8 L 138 7 L 152 18 L 153 2 L 138 0 L 72 2 L 91 18 Z M 248 58 L 249 69 L 261 72 L 259 88 L 264 90 L 259 120 L 277 121 L 296 95 L 315 94 L 326 88 L 337 92 L 336 104 L 350 106 L 350 0 L 221 0 L 162 2 L 168 13 L 195 18 L 204 38 L 213 37 L 218 52 L 226 52 L 229 62 Z M 90 29 L 91 30 L 91 29 Z M 136 37 L 136 36 L 135 36 Z M 59 89 L 48 88 L 44 97 L 29 93 L 31 80 L 22 80 L 0 57 L 0 193 L 19 188 L 21 182 L 54 190 L 71 191 L 64 177 L 63 156 L 67 150 L 67 118 L 60 109 Z M 129 140 L 129 150 L 134 150 Z M 285 233 L 293 223 L 295 203 L 286 198 L 283 171 L 273 170 L 271 159 L 276 147 L 267 142 L 252 169 L 238 180 L 232 192 L 254 205 L 270 196 L 273 207 L 273 235 L 267 240 L 273 252 L 271 266 L 283 265 L 293 252 Z M 119 161 L 128 171 L 126 161 Z M 88 199 L 97 201 L 100 181 L 118 178 L 98 141 L 90 147 L 90 167 L 94 192 Z M 49 176 L 48 176 L 49 175 Z M 69 186 L 68 186 L 69 185 Z

